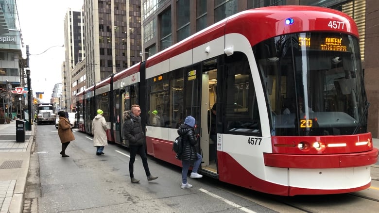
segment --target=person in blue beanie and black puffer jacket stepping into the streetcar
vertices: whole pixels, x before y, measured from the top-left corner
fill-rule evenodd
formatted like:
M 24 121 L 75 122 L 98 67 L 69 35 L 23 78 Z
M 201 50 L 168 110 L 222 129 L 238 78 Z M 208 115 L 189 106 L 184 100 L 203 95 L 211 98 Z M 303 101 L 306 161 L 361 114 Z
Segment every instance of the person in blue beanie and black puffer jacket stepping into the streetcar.
M 180 125 L 178 129 L 178 134 L 182 136 L 183 141 L 183 151 L 180 155 L 176 157 L 182 160 L 182 189 L 191 188 L 192 185 L 187 182 L 187 173 L 189 170 L 189 164 L 191 161 L 195 161 L 193 164 L 190 178 L 202 178 L 203 176 L 197 173 L 201 160 L 203 157 L 197 153 L 195 145 L 197 144 L 197 138 L 199 135 L 195 136 L 195 118 L 192 116 L 187 116 L 184 124 Z

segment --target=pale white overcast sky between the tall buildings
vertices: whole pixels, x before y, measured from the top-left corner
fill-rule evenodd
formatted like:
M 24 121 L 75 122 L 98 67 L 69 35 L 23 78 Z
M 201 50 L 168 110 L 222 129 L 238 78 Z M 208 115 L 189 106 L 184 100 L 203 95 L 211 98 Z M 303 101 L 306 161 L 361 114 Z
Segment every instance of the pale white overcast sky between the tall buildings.
M 16 3 L 24 43 L 23 58 L 26 58 L 26 45 L 29 45 L 33 95 L 36 97 L 36 92 L 43 92 L 43 100 L 49 101 L 54 85 L 62 82 L 66 12 L 69 8 L 80 10 L 83 0 L 16 0 Z

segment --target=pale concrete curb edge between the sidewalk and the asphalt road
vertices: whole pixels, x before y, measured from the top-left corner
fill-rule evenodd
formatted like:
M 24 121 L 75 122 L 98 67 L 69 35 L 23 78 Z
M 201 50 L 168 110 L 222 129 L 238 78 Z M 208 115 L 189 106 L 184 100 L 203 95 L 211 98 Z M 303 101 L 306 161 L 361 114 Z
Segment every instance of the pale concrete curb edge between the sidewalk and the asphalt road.
M 24 192 L 25 192 L 25 185 L 26 185 L 26 178 L 28 176 L 29 171 L 29 163 L 30 163 L 30 152 L 31 147 L 34 141 L 34 132 L 35 132 L 35 125 L 32 125 L 32 132 L 29 138 L 29 144 L 28 148 L 25 152 L 24 163 L 22 169 L 20 170 L 19 176 L 16 180 L 15 190 L 13 191 L 13 196 L 11 203 L 9 205 L 8 213 L 23 213 L 24 211 Z

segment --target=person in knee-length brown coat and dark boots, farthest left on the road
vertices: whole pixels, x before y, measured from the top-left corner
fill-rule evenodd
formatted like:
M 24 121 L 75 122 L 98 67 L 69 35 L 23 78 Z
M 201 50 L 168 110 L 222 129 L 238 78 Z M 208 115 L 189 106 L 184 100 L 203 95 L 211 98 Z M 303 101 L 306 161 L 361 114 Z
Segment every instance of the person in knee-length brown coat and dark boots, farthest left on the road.
M 66 155 L 66 148 L 69 146 L 70 141 L 75 140 L 74 134 L 70 128 L 69 119 L 66 118 L 66 113 L 64 111 L 59 111 L 59 123 L 58 123 L 58 135 L 62 143 L 62 157 L 69 157 Z

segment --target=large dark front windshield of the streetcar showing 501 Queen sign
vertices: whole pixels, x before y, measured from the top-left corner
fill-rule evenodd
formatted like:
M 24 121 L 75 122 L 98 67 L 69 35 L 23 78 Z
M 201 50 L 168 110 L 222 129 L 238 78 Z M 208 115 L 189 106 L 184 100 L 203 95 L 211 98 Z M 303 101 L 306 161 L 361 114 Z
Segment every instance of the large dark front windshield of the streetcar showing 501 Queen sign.
M 367 132 L 358 39 L 341 33 L 295 33 L 253 47 L 272 135 Z

